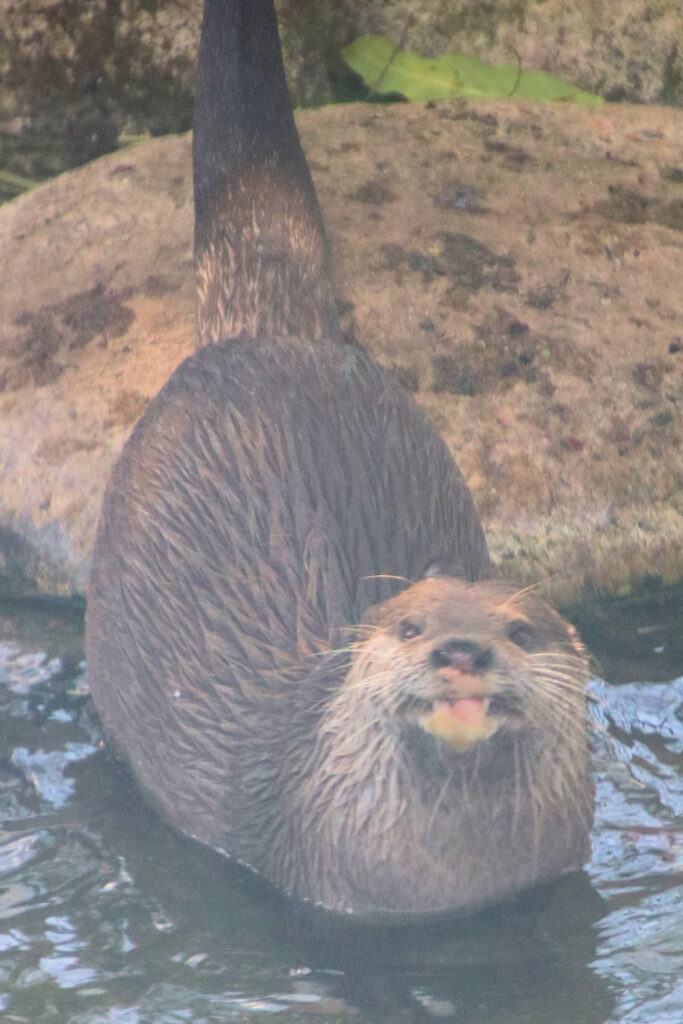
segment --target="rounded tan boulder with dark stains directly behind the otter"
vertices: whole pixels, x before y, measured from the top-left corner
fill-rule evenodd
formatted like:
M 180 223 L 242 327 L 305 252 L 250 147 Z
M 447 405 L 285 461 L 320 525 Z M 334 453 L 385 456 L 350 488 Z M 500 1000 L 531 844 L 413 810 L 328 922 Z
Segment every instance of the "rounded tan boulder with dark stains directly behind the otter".
M 556 598 L 680 578 L 681 115 L 299 124 L 347 330 L 442 431 L 502 570 Z M 46 591 L 83 590 L 109 467 L 193 349 L 190 184 L 170 137 L 0 210 L 0 550 Z

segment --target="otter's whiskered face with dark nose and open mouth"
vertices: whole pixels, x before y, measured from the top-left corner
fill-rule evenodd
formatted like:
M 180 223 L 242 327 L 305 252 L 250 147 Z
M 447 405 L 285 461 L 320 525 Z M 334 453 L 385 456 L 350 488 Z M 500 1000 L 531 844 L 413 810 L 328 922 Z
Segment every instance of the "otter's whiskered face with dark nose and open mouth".
M 365 620 L 352 676 L 373 705 L 456 751 L 499 730 L 583 731 L 587 663 L 572 627 L 527 591 L 437 577 Z

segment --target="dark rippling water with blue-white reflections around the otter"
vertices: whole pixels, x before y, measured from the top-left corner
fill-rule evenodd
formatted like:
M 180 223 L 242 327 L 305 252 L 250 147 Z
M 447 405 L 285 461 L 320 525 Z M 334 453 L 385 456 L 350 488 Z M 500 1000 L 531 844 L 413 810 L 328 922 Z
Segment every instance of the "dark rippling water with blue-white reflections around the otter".
M 679 592 L 574 613 L 611 681 L 586 872 L 359 930 L 171 833 L 100 748 L 80 609 L 0 600 L 0 1018 L 681 1024 L 682 612 Z

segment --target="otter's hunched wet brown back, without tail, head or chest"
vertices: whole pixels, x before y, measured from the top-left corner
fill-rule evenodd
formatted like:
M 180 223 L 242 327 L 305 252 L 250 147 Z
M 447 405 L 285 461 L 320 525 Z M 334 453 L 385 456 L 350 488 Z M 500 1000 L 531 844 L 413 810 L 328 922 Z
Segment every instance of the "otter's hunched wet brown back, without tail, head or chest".
M 362 352 L 290 338 L 188 358 L 108 486 L 86 630 L 104 728 L 165 816 L 258 869 L 347 668 L 315 692 L 311 659 L 444 557 L 487 572 L 470 495 Z

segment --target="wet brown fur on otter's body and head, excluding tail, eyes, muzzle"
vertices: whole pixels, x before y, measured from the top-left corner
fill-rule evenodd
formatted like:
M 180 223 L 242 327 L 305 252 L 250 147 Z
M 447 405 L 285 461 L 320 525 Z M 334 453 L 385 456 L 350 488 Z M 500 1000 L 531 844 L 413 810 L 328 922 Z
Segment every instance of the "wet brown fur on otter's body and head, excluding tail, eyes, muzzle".
M 164 815 L 364 913 L 470 905 L 580 866 L 583 655 L 500 584 L 427 579 L 387 600 L 446 558 L 486 574 L 471 499 L 368 356 L 284 339 L 186 360 L 117 465 L 88 604 L 97 708 Z M 392 637 L 407 609 L 434 624 L 412 653 Z M 511 614 L 532 653 L 504 642 Z M 492 646 L 525 716 L 465 755 L 401 712 L 429 698 L 424 644 L 449 634 Z

